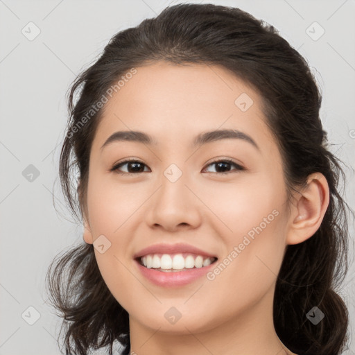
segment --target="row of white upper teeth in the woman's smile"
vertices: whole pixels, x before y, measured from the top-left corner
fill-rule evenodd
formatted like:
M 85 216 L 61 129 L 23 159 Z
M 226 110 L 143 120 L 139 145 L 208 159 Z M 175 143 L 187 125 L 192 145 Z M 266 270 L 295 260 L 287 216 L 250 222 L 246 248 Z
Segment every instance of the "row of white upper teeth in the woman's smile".
M 148 254 L 141 257 L 141 263 L 148 269 L 184 270 L 209 266 L 215 259 L 213 257 L 202 257 L 201 255 L 195 258 L 191 254 L 187 257 L 183 257 L 182 254 Z

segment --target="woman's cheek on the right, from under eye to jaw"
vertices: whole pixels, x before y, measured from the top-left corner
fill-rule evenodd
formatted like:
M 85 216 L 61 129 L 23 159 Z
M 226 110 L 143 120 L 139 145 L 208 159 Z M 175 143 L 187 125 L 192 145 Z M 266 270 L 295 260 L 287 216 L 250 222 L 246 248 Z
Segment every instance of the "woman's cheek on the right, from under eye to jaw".
M 243 187 L 216 189 L 209 203 L 223 221 L 218 220 L 218 230 L 225 245 L 225 257 L 210 275 L 220 284 L 216 289 L 237 283 L 243 286 L 243 300 L 253 290 L 265 292 L 275 282 L 286 248 L 285 200 L 282 181 L 267 176 L 245 180 Z

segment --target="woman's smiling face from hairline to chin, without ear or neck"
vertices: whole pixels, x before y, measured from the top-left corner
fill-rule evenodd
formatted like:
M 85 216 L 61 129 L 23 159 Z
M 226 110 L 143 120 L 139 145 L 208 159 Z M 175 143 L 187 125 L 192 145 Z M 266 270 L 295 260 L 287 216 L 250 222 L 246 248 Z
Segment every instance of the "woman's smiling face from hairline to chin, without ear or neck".
M 107 102 L 84 239 L 130 323 L 184 334 L 270 315 L 288 213 L 265 122 L 260 96 L 217 66 L 138 67 Z M 237 134 L 201 136 L 214 130 Z

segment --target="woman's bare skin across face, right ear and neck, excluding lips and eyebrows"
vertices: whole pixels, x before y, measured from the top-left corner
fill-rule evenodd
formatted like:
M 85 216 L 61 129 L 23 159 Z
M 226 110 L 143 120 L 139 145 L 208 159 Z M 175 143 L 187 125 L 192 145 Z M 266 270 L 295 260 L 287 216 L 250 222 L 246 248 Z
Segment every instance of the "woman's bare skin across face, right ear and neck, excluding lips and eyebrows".
M 234 103 L 242 93 L 254 102 L 245 112 Z M 90 155 L 83 238 L 93 243 L 104 235 L 111 243 L 95 255 L 130 315 L 132 354 L 293 354 L 273 325 L 275 282 L 286 245 L 320 227 L 329 190 L 315 173 L 288 201 L 282 157 L 265 122 L 257 92 L 222 67 L 202 64 L 138 67 L 106 104 Z M 250 135 L 259 150 L 242 139 L 191 148 L 200 132 L 225 128 Z M 118 130 L 146 132 L 158 144 L 114 141 L 101 150 Z M 110 171 L 125 158 L 144 162 L 144 172 Z M 223 158 L 247 170 L 231 164 L 223 175 L 211 164 Z M 182 171 L 174 183 L 164 175 L 170 164 Z M 277 217 L 213 280 L 156 286 L 132 259 L 148 245 L 184 242 L 223 261 L 274 210 Z M 164 317 L 172 306 L 181 313 L 175 324 Z

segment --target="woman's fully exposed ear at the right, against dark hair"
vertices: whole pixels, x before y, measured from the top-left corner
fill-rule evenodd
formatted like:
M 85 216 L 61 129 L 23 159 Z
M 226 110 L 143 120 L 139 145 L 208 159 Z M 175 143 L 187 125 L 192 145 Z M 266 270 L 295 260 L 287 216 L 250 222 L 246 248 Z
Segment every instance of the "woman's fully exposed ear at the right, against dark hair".
M 309 175 L 307 184 L 291 207 L 287 244 L 298 244 L 317 232 L 329 205 L 329 186 L 321 173 Z

